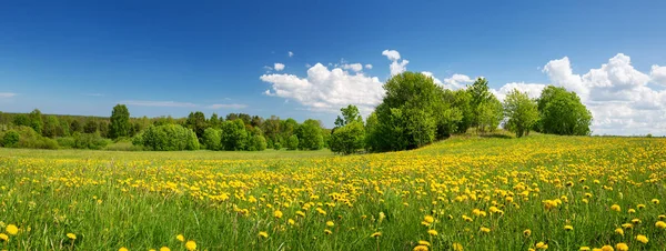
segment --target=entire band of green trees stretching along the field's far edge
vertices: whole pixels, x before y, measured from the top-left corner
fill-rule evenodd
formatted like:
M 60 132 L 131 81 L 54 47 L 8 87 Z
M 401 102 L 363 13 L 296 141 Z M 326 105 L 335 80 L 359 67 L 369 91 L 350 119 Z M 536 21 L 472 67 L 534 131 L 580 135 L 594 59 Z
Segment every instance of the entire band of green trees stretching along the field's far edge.
M 335 127 L 321 121 L 268 119 L 245 113 L 210 118 L 201 111 L 186 118 L 131 118 L 117 104 L 109 118 L 0 112 L 0 145 L 14 148 L 103 149 L 129 141 L 139 150 L 261 151 L 264 149 L 319 150 L 349 154 L 408 150 L 474 130 L 494 132 L 500 127 L 516 137 L 531 131 L 587 135 L 592 114 L 575 92 L 546 87 L 541 97 L 512 90 L 500 101 L 478 78 L 464 89 L 447 90 L 431 77 L 403 72 L 384 84 L 385 96 L 364 120 L 352 104 L 341 109 Z

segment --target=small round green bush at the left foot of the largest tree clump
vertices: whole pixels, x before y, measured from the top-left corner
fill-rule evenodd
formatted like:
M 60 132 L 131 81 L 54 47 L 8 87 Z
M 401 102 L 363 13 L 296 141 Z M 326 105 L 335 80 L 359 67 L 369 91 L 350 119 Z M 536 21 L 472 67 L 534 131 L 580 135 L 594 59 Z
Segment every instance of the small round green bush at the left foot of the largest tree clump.
M 335 129 L 331 134 L 331 151 L 351 154 L 359 149 L 363 149 L 365 143 L 365 129 L 360 121 L 352 121 L 341 128 Z

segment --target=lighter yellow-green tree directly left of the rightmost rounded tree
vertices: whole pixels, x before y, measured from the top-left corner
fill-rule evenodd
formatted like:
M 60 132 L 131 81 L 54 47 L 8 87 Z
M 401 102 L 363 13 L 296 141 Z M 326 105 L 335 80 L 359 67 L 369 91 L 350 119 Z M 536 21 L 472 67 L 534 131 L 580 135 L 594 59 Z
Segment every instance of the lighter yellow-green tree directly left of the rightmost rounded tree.
M 504 127 L 516 133 L 516 137 L 529 134 L 529 129 L 538 120 L 536 102 L 517 89 L 511 91 L 504 99 L 504 114 L 507 118 Z

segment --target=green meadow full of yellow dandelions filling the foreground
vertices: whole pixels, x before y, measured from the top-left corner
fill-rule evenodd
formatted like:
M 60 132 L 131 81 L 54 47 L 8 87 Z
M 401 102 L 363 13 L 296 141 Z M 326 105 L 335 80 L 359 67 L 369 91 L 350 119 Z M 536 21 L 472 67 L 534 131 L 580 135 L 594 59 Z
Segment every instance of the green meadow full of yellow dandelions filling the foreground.
M 0 149 L 0 250 L 666 250 L 666 139 Z

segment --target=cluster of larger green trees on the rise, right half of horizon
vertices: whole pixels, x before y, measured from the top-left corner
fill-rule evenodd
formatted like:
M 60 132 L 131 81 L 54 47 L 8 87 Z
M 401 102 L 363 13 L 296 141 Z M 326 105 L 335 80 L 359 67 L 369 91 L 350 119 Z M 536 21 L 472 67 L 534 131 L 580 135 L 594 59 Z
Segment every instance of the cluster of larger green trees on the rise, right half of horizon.
M 561 87 L 546 87 L 537 99 L 512 90 L 501 102 L 484 78 L 454 91 L 422 73 L 403 72 L 389 79 L 384 90 L 382 103 L 365 121 L 356 107 L 341 109 L 342 117 L 331 134 L 331 150 L 345 154 L 361 149 L 408 150 L 471 129 L 493 132 L 500 126 L 518 138 L 531 131 L 591 134 L 592 113 L 575 92 Z

